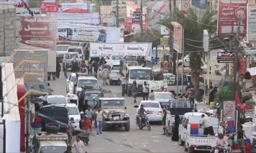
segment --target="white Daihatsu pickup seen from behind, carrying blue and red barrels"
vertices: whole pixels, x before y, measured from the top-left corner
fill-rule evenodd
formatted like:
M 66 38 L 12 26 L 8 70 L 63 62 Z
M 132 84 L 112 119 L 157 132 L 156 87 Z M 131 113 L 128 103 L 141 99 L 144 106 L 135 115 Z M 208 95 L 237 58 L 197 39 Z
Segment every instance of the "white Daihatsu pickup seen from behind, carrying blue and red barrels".
M 190 124 L 200 123 L 201 115 L 204 113 L 185 113 L 183 120 L 179 123 L 179 145 L 184 145 L 185 152 L 194 152 L 194 150 L 211 151 L 212 145 L 214 145 L 215 136 L 203 136 L 201 134 L 190 135 Z M 207 116 L 205 114 L 205 116 Z M 218 119 L 209 117 L 214 127 L 214 133 L 218 130 Z M 203 134 L 203 129 L 199 127 L 199 132 Z

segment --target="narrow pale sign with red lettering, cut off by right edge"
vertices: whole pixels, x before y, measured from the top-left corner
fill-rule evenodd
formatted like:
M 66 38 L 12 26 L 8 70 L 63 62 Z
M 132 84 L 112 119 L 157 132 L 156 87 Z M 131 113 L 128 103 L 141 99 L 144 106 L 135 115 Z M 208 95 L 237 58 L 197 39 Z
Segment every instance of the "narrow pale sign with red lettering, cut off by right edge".
M 256 42 L 256 4 L 248 4 L 247 7 L 247 43 Z

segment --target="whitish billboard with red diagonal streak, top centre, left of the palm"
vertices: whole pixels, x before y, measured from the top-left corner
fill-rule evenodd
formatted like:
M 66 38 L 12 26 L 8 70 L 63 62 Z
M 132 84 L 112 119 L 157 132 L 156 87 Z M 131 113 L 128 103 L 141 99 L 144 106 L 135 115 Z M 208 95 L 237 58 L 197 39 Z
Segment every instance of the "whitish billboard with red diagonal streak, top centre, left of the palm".
M 169 3 L 165 1 L 147 1 L 147 24 L 152 30 L 160 30 L 158 24 L 163 14 L 169 12 Z

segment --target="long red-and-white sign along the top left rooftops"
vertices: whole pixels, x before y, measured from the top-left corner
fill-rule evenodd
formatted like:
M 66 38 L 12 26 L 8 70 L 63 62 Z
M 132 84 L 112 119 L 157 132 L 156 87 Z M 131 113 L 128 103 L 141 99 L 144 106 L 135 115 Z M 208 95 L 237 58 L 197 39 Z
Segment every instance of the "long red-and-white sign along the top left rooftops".
M 42 12 L 87 13 L 87 3 L 41 2 Z

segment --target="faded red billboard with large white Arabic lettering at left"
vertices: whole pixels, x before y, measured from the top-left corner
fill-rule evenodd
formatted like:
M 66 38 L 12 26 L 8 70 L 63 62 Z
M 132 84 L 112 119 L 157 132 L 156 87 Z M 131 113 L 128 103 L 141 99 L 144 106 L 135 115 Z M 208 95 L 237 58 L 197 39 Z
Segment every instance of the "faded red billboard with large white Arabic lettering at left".
M 49 49 L 49 72 L 56 71 L 56 26 L 55 17 L 16 17 L 17 46 Z

